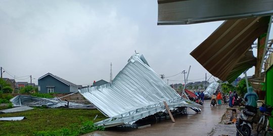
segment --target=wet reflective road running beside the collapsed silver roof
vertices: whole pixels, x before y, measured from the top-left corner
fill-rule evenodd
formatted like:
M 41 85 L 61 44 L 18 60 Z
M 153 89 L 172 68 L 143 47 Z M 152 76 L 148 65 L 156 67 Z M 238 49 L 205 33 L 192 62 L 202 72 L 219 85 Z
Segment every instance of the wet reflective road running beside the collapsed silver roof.
M 196 113 L 188 108 L 188 114 L 175 116 L 175 122 L 171 119 L 152 124 L 151 127 L 133 129 L 130 131 L 95 131 L 85 135 L 208 135 L 212 128 L 221 121 L 226 110 L 226 105 L 210 106 L 210 100 L 205 100 L 201 113 Z

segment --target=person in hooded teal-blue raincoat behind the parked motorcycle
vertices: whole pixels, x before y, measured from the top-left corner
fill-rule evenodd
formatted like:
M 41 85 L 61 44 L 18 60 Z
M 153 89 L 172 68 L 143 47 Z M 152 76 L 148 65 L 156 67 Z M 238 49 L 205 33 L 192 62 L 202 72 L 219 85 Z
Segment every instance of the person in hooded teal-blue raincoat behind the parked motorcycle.
M 253 92 L 252 87 L 248 87 L 247 93 L 245 94 L 244 98 L 247 98 L 246 105 L 257 107 L 257 101 L 258 101 L 259 97 L 255 92 Z

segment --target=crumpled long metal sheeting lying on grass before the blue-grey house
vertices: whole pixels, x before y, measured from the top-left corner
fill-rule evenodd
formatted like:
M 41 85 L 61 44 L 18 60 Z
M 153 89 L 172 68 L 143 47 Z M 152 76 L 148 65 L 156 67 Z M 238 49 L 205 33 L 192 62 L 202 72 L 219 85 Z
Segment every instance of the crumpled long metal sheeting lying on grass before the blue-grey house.
M 10 100 L 13 106 L 47 106 L 48 108 L 59 108 L 59 107 L 68 107 L 68 108 L 95 108 L 94 105 L 85 105 L 79 103 L 70 102 L 68 105 L 67 101 L 62 101 L 60 99 L 51 99 L 51 98 L 39 98 L 29 95 L 17 95 Z

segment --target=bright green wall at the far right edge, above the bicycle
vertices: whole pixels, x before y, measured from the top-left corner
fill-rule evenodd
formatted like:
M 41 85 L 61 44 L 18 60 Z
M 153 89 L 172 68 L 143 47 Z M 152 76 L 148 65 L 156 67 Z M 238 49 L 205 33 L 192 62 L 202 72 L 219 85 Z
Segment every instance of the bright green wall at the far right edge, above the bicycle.
M 266 71 L 265 75 L 266 95 L 265 103 L 273 106 L 273 65 Z M 273 118 L 270 118 L 270 126 L 273 127 Z

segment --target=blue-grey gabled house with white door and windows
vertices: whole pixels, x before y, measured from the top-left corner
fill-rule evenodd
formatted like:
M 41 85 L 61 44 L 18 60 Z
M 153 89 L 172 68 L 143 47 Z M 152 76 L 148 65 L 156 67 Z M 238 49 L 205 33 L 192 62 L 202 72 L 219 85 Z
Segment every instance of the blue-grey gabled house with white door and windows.
M 51 73 L 38 79 L 38 91 L 40 93 L 73 93 L 78 86 Z

